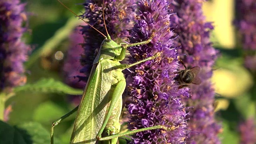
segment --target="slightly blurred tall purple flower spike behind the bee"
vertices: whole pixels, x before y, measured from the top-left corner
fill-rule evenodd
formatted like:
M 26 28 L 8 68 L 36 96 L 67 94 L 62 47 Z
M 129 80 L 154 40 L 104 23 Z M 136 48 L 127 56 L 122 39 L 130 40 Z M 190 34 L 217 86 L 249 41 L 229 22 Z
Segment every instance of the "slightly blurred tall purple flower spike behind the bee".
M 191 98 L 184 98 L 184 104 L 189 107 L 188 127 L 191 129 L 188 144 L 220 144 L 218 134 L 222 128 L 215 120 L 214 88 L 210 81 L 212 66 L 217 59 L 218 51 L 210 42 L 210 31 L 214 28 L 211 22 L 206 22 L 202 12 L 205 0 L 176 0 L 170 5 L 175 12 L 170 18 L 174 32 L 178 36 L 175 46 L 180 46 L 178 53 L 188 68 L 199 66 L 201 84 L 190 84 Z M 183 66 L 180 69 L 184 69 Z

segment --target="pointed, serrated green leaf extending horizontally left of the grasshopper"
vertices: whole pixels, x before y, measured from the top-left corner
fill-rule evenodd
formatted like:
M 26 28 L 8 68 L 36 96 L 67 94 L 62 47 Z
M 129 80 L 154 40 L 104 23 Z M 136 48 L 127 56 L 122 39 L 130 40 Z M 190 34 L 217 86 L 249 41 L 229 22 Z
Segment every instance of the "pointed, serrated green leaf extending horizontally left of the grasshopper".
M 79 95 L 83 92 L 83 90 L 72 88 L 63 82 L 54 80 L 53 78 L 43 78 L 34 84 L 26 84 L 14 89 L 14 92 L 16 93 L 20 91 L 57 92 L 71 95 Z

